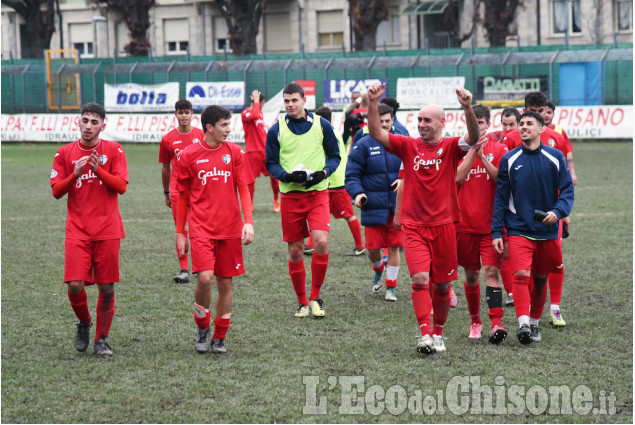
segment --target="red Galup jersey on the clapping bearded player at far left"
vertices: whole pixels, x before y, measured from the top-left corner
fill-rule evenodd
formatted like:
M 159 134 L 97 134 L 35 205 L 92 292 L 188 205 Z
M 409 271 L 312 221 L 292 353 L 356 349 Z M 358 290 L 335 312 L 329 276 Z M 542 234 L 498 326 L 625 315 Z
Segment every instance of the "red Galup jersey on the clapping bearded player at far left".
M 73 174 L 75 162 L 95 149 L 99 154 L 99 167 L 127 182 L 128 165 L 123 149 L 119 143 L 100 139 L 95 148 L 86 148 L 79 141 L 59 148 L 53 160 L 51 186 Z M 67 239 L 101 241 L 125 237 L 117 192 L 102 183 L 90 169 L 90 164 L 86 164 L 82 175 L 68 191 L 66 205 Z

